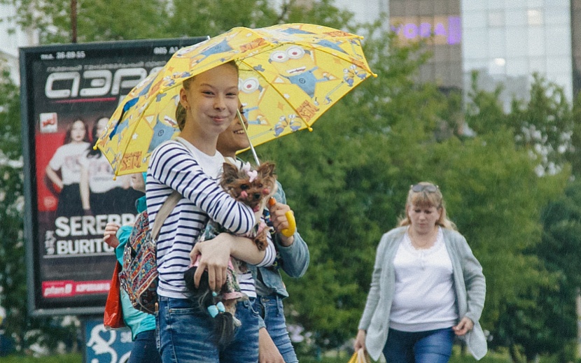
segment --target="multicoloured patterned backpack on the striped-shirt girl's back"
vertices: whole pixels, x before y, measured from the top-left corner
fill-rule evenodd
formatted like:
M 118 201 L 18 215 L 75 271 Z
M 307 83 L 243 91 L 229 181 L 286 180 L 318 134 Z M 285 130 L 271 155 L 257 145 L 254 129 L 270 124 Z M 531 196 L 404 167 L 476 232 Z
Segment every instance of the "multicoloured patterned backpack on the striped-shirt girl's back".
M 155 314 L 155 304 L 158 302 L 155 244 L 163 222 L 180 199 L 181 194 L 174 190 L 160 208 L 153 229 L 149 228 L 147 211 L 141 212 L 123 250 L 123 271 L 119 273 L 121 287 L 129 295 L 133 307 L 144 313 Z

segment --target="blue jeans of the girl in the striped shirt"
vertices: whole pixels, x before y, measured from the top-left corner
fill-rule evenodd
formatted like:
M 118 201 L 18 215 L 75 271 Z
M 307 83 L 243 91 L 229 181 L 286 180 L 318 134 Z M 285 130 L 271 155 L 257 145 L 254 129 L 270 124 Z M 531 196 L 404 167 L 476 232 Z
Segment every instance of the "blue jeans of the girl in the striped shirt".
M 158 349 L 164 363 L 255 363 L 258 362 L 258 314 L 250 301 L 236 304 L 236 317 L 242 325 L 235 337 L 219 350 L 212 337 L 212 318 L 197 302 L 159 297 L 155 319 Z

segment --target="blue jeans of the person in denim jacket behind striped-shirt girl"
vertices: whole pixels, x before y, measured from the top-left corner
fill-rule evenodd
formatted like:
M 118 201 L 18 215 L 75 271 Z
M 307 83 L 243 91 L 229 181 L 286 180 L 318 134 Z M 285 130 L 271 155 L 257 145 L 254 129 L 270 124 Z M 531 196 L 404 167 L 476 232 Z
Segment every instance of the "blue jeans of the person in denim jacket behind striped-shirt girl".
M 293 343 L 290 343 L 290 336 L 286 330 L 282 299 L 279 295 L 259 296 L 258 299 L 253 299 L 252 304 L 254 310 L 265 320 L 267 332 L 276 348 L 279 348 L 284 362 L 298 362 L 295 348 Z

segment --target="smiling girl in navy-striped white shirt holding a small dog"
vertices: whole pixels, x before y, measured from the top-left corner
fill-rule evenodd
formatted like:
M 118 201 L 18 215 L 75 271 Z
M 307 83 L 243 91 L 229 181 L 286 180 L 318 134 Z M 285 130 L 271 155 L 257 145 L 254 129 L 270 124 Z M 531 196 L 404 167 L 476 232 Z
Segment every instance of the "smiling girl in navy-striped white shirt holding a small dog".
M 151 155 L 146 186 L 150 224 L 165 199 L 178 191 L 183 199 L 165 220 L 158 237 L 159 341 L 164 363 L 257 362 L 258 315 L 248 300 L 237 303 L 242 322 L 230 346 L 220 349 L 211 337 L 212 321 L 196 301 L 188 299 L 183 273 L 200 254 L 196 285 L 208 271 L 212 290 L 221 289 L 230 255 L 251 264 L 272 264 L 274 248 L 259 251 L 250 239 L 220 234 L 194 241 L 211 218 L 234 234 L 250 232 L 256 217 L 248 206 L 226 194 L 216 180 L 224 162 L 216 150 L 218 135 L 237 115 L 238 71 L 234 62 L 188 78 L 179 101 L 186 110 L 181 138 L 158 146 Z

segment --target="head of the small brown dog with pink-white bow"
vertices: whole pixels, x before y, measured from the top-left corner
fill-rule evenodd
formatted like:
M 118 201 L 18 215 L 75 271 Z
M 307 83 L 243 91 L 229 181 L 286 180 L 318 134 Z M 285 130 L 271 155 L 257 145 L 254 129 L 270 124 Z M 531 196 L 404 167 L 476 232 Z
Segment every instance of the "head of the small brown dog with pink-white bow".
M 232 197 L 258 211 L 262 201 L 276 191 L 276 174 L 274 164 L 263 162 L 256 169 L 249 163 L 241 169 L 228 162 L 224 163 L 220 185 Z

